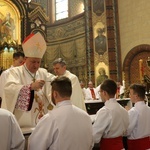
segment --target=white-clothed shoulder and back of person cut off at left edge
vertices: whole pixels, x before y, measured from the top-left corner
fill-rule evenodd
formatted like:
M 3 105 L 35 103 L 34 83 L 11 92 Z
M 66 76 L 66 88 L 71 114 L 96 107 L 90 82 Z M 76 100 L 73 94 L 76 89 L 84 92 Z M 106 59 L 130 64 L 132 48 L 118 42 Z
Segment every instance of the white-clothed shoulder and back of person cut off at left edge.
M 0 150 L 24 150 L 25 139 L 15 116 L 0 108 Z

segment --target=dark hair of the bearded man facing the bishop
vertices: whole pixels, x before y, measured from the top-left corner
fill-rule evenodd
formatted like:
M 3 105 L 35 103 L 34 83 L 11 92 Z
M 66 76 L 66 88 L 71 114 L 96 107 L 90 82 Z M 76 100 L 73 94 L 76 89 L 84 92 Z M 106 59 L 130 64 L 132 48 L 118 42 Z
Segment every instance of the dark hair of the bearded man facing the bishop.
M 60 76 L 51 82 L 52 91 L 57 91 L 61 97 L 70 97 L 72 94 L 71 80 L 68 77 Z

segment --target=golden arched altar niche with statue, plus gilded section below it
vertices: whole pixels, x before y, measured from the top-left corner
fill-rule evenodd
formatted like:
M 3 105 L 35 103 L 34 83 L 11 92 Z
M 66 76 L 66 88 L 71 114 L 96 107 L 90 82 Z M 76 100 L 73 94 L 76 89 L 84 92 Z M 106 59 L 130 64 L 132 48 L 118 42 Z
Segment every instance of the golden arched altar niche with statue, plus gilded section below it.
M 20 43 L 20 14 L 9 0 L 0 1 L 0 67 L 7 69 L 12 64 L 14 46 Z

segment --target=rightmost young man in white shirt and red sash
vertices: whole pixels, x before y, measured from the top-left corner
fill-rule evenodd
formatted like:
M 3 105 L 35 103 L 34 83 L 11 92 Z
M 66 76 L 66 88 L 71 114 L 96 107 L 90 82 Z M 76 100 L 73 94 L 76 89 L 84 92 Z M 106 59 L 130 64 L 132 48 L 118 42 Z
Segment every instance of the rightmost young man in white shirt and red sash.
M 150 107 L 145 104 L 145 92 L 141 84 L 130 86 L 130 99 L 135 105 L 128 111 L 128 150 L 150 149 Z

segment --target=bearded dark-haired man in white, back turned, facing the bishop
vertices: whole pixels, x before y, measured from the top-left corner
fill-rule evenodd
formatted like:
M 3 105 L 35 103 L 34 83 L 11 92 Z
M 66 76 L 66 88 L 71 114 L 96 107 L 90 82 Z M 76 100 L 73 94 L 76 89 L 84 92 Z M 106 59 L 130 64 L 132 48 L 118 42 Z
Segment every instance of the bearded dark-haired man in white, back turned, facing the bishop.
M 29 150 L 92 150 L 91 119 L 85 111 L 72 105 L 71 80 L 60 76 L 51 85 L 56 107 L 37 124 L 29 137 Z

